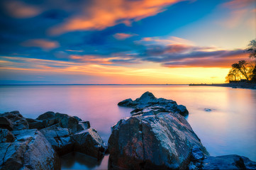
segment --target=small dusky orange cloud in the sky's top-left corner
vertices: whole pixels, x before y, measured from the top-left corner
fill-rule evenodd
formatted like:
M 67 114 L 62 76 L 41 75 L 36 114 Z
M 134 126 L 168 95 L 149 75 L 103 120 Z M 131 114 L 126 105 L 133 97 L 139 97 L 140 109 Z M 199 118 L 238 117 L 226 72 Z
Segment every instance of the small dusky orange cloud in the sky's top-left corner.
M 8 1 L 6 3 L 6 9 L 15 18 L 30 18 L 41 13 L 39 8 L 24 4 L 21 1 Z

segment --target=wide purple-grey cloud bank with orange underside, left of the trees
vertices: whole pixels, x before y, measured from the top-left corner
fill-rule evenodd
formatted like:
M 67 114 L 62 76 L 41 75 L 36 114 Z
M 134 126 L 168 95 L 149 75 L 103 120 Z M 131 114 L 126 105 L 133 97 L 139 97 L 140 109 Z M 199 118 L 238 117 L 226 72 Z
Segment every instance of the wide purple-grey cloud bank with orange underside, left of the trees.
M 230 67 L 238 60 L 247 60 L 244 50 L 224 50 L 218 47 L 199 47 L 189 40 L 177 42 L 172 38 L 144 38 L 137 41 L 145 50 L 137 57 L 142 61 L 157 62 L 164 67 Z M 149 43 L 150 42 L 150 43 Z M 187 42 L 189 44 L 182 44 Z

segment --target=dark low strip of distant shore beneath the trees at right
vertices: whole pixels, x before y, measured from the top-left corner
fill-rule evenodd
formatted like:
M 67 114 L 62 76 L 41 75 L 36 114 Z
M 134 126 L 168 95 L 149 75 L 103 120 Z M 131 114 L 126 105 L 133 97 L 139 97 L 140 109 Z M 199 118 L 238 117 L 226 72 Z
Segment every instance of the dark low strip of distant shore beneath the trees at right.
M 189 84 L 189 86 L 223 86 L 223 87 L 231 87 L 233 89 L 256 89 L 255 83 L 246 83 L 246 82 L 238 82 L 238 83 L 228 83 L 228 84 Z

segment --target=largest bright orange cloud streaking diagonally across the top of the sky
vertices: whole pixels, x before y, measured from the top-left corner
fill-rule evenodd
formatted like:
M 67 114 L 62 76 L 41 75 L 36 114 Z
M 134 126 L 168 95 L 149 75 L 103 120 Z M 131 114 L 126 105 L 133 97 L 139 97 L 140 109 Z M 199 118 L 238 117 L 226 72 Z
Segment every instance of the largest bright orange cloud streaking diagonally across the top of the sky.
M 66 23 L 50 29 L 50 33 L 60 34 L 74 30 L 103 30 L 118 23 L 125 23 L 129 26 L 132 21 L 154 16 L 165 11 L 165 6 L 179 1 L 184 0 L 95 0 L 92 1 L 89 8 L 85 6 L 82 16 L 68 18 Z

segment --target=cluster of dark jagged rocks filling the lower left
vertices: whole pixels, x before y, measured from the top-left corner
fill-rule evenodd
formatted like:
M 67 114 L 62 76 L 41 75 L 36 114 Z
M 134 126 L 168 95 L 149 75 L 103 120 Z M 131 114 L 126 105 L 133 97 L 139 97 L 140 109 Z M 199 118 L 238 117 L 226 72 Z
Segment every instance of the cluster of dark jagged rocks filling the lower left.
M 0 169 L 60 169 L 62 154 L 101 159 L 106 145 L 87 121 L 47 112 L 36 119 L 18 111 L 0 114 Z

